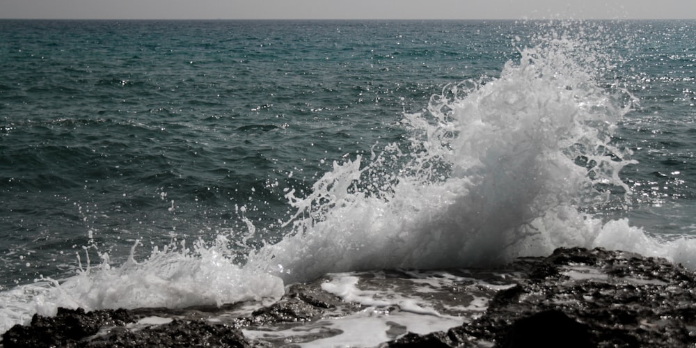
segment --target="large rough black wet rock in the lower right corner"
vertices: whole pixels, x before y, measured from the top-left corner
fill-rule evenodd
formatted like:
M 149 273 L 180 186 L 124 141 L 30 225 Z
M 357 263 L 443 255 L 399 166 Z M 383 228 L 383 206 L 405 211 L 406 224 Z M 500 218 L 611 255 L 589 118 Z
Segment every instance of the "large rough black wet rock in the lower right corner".
M 601 248 L 560 248 L 523 258 L 519 284 L 486 313 L 445 335 L 406 335 L 386 347 L 693 347 L 696 277 L 656 258 Z M 456 338 L 456 339 L 453 339 Z

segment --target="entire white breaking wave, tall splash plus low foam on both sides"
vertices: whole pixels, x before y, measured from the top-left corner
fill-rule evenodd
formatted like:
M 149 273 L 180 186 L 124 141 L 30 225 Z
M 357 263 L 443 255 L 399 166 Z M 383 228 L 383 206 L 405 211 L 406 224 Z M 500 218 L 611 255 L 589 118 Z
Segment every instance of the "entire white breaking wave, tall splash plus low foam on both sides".
M 284 283 L 329 272 L 484 266 L 559 246 L 691 264 L 693 241 L 658 242 L 626 220 L 590 213 L 612 195 L 631 193 L 619 178 L 631 154 L 612 142 L 631 96 L 598 86 L 597 74 L 610 66 L 589 42 L 556 34 L 537 40 L 499 78 L 448 86 L 427 112 L 404 115 L 409 143 L 389 144 L 369 161 L 334 163 L 309 196 L 287 193 L 295 209 L 285 222 L 291 232 L 249 251 L 246 262 L 234 262 L 238 252 L 225 236 L 212 245 L 155 248 L 148 260 L 120 267 L 109 267 L 106 257 L 60 283 L 1 293 L 0 331 L 58 306 L 276 299 Z

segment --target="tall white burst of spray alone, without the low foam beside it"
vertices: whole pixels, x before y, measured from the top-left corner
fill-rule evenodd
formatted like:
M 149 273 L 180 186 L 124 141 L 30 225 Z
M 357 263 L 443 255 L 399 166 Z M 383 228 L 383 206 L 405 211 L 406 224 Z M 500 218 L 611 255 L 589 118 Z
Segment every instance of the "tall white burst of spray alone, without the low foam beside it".
M 611 144 L 628 106 L 594 84 L 577 45 L 552 38 L 521 50 L 499 79 L 445 88 L 427 113 L 406 115 L 410 149 L 391 145 L 364 168 L 360 157 L 334 164 L 312 195 L 290 195 L 295 234 L 251 264 L 294 282 L 593 246 L 601 222 L 580 210 L 606 203 L 598 184 L 628 191 L 618 173 L 630 154 Z M 375 174 L 384 166 L 397 174 Z

